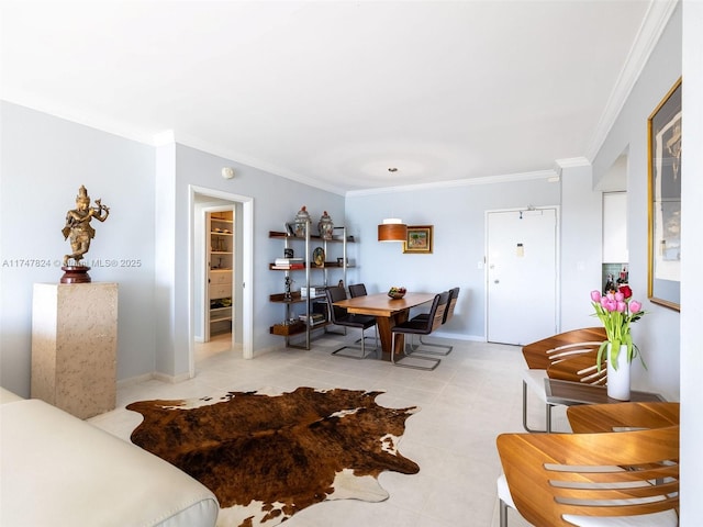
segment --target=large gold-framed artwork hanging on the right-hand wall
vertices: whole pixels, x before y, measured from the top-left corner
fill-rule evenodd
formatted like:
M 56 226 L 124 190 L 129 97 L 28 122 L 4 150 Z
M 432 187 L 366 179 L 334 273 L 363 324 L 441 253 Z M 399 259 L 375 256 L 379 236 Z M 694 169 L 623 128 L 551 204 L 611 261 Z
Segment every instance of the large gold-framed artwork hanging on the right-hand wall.
M 649 268 L 647 295 L 681 309 L 681 79 L 647 121 Z

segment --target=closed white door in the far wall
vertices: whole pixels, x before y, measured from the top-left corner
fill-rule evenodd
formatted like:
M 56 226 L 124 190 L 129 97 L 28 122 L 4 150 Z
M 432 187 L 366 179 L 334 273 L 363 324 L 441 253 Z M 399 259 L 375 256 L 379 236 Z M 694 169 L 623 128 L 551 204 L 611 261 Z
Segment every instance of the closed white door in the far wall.
M 557 211 L 487 213 L 487 336 L 525 345 L 557 333 Z

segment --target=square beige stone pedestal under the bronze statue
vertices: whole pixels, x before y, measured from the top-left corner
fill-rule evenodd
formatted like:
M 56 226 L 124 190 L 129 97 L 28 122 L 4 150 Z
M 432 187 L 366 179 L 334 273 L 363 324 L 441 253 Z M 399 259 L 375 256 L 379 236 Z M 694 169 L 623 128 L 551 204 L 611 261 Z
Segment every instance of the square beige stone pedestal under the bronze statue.
M 86 419 L 115 407 L 116 283 L 35 283 L 32 397 Z

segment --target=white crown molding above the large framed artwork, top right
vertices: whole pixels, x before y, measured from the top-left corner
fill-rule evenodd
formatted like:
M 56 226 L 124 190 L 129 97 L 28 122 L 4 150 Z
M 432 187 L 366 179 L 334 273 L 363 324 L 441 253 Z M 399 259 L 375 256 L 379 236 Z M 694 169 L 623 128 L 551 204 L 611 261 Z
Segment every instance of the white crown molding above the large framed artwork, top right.
M 621 70 L 605 110 L 595 127 L 591 144 L 587 148 L 587 157 L 590 160 L 595 158 L 605 143 L 607 134 L 615 124 L 615 120 L 623 110 L 679 2 L 680 0 L 651 0 L 649 2 L 645 19 L 625 60 L 625 66 Z

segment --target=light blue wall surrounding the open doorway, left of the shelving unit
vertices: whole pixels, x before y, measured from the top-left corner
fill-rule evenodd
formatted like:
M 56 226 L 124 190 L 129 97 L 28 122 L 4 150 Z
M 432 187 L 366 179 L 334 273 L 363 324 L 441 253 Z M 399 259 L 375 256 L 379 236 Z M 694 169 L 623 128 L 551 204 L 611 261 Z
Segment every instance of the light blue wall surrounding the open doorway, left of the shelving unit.
M 168 147 L 163 147 L 168 148 Z M 190 186 L 228 192 L 254 199 L 254 349 L 268 349 L 282 345 L 280 337 L 270 335 L 269 327 L 284 318 L 280 304 L 271 304 L 272 293 L 283 292 L 283 274 L 268 270 L 269 262 L 282 256 L 280 242 L 268 237 L 269 231 L 283 229 L 302 205 L 308 208 L 313 223 L 327 211 L 335 223 L 344 224 L 344 198 L 306 184 L 274 176 L 269 172 L 242 165 L 194 148 L 175 145 L 176 162 L 172 181 L 174 221 L 165 225 L 166 237 L 174 237 L 172 282 L 164 284 L 168 292 L 171 318 L 164 321 L 156 345 L 158 371 L 179 375 L 188 371 L 188 232 Z M 167 157 L 170 155 L 166 149 Z M 233 167 L 235 178 L 225 180 L 222 167 Z M 157 195 L 157 202 L 171 197 Z M 168 210 L 168 203 L 164 204 Z M 299 285 L 298 285 L 299 287 Z M 172 322 L 172 324 L 169 324 Z

